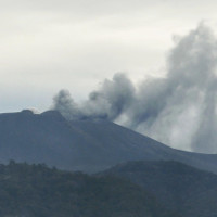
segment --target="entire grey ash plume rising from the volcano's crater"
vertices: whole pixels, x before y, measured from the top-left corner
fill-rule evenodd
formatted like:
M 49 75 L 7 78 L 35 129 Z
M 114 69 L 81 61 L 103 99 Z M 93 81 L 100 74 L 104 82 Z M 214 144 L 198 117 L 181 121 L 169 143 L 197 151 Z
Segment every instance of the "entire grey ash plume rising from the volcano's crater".
M 135 87 L 116 74 L 79 105 L 60 91 L 53 107 L 69 119 L 105 118 L 174 148 L 216 153 L 216 64 L 217 39 L 201 24 L 170 51 L 165 78 Z

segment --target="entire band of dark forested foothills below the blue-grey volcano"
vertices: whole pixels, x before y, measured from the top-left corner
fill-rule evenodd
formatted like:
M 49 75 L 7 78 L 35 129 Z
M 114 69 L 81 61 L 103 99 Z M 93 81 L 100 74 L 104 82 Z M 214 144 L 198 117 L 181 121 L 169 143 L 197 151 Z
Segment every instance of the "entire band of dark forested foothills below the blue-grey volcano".
M 217 175 L 177 162 L 129 162 L 92 176 L 0 165 L 1 217 L 216 217 L 216 204 Z

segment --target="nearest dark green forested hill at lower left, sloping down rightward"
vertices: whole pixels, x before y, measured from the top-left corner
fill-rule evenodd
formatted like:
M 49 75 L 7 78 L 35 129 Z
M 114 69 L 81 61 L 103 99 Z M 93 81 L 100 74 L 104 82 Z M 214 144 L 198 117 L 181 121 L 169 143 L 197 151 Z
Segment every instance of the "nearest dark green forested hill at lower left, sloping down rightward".
M 176 217 L 140 187 L 111 176 L 0 165 L 1 217 Z

